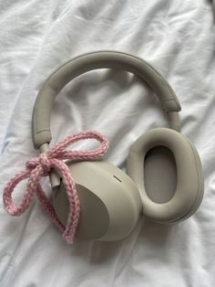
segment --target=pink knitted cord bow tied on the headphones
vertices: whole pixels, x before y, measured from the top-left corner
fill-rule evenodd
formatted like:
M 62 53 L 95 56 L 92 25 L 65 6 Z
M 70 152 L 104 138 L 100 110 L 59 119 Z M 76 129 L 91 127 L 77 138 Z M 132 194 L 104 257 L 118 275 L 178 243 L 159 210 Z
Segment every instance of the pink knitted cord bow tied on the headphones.
M 67 151 L 66 148 L 71 143 L 80 140 L 96 139 L 100 142 L 100 146 L 93 150 L 80 150 L 80 151 Z M 79 219 L 80 207 L 79 199 L 77 197 L 77 189 L 74 180 L 70 174 L 68 166 L 63 160 L 81 161 L 81 160 L 95 160 L 104 154 L 108 149 L 108 141 L 105 136 L 97 132 L 82 132 L 68 136 L 65 140 L 57 143 L 56 146 L 50 149 L 46 154 L 40 154 L 26 162 L 26 170 L 17 173 L 5 186 L 3 193 L 3 202 L 5 210 L 12 216 L 20 216 L 27 207 L 29 207 L 33 196 L 36 194 L 46 215 L 56 224 L 58 229 L 63 232 L 63 239 L 67 243 L 72 243 L 77 230 Z M 39 184 L 41 176 L 50 174 L 51 168 L 55 168 L 62 176 L 62 180 L 67 192 L 69 202 L 69 213 L 67 218 L 67 226 L 65 227 L 62 222 L 57 218 L 56 211 L 45 192 Z M 20 181 L 28 178 L 26 192 L 21 202 L 15 206 L 12 193 L 15 186 Z

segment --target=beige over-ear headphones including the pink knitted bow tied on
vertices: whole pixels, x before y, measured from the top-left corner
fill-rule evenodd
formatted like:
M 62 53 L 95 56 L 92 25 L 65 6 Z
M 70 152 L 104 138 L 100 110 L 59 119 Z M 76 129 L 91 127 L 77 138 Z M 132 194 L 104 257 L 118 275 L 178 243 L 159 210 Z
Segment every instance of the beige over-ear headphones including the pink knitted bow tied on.
M 73 137 L 48 152 L 52 138 L 51 110 L 57 93 L 77 76 L 91 69 L 104 68 L 125 69 L 145 80 L 156 92 L 169 116 L 171 129 L 153 129 L 131 145 L 128 175 L 117 166 L 101 160 L 70 162 L 67 165 L 63 163 L 62 160 L 68 158 L 65 148 L 67 143 L 75 141 Z M 15 175 L 5 186 L 3 197 L 7 212 L 14 216 L 22 214 L 36 193 L 47 215 L 60 229 L 65 230 L 64 238 L 67 242 L 72 242 L 76 228 L 77 238 L 81 239 L 123 239 L 134 229 L 140 215 L 163 224 L 189 218 L 200 206 L 203 197 L 203 175 L 195 146 L 179 133 L 179 111 L 179 101 L 169 83 L 141 58 L 116 51 L 97 51 L 72 58 L 56 69 L 39 90 L 33 112 L 32 136 L 36 149 L 40 149 L 42 154 L 28 161 L 26 170 Z M 88 138 L 86 134 L 89 133 L 85 133 L 84 138 Z M 75 138 L 81 136 L 76 135 Z M 94 138 L 101 143 L 103 140 L 106 142 L 97 133 L 94 133 Z M 107 142 L 104 144 L 107 146 Z M 102 148 L 100 151 L 103 151 Z M 79 158 L 78 153 L 76 158 Z M 84 158 L 95 159 L 92 156 Z M 60 169 L 63 175 L 63 180 L 59 179 L 56 171 L 50 175 L 55 210 L 38 183 L 39 177 L 47 175 L 53 166 Z M 162 177 L 163 171 L 166 177 Z M 25 196 L 19 206 L 15 207 L 11 194 L 15 186 L 26 177 L 29 180 Z M 174 193 L 163 197 L 163 193 L 167 190 L 169 192 L 166 182 Z M 75 190 L 75 196 L 72 190 Z M 71 200 L 72 197 L 74 200 Z M 79 216 L 79 203 L 80 217 L 77 225 L 78 217 L 75 211 L 71 215 L 71 210 L 77 207 Z M 68 229 L 70 226 L 71 232 Z

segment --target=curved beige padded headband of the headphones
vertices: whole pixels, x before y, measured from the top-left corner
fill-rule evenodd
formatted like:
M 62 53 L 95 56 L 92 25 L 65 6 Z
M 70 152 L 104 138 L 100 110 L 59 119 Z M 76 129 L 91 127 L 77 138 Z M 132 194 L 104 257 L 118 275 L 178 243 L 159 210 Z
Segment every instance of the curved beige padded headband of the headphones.
M 39 90 L 32 118 L 32 136 L 36 148 L 51 141 L 50 118 L 57 93 L 77 76 L 92 69 L 105 68 L 124 69 L 146 81 L 158 95 L 164 110 L 169 113 L 171 127 L 179 130 L 179 100 L 169 83 L 156 69 L 142 58 L 127 53 L 97 51 L 67 61 L 48 77 L 42 89 Z

